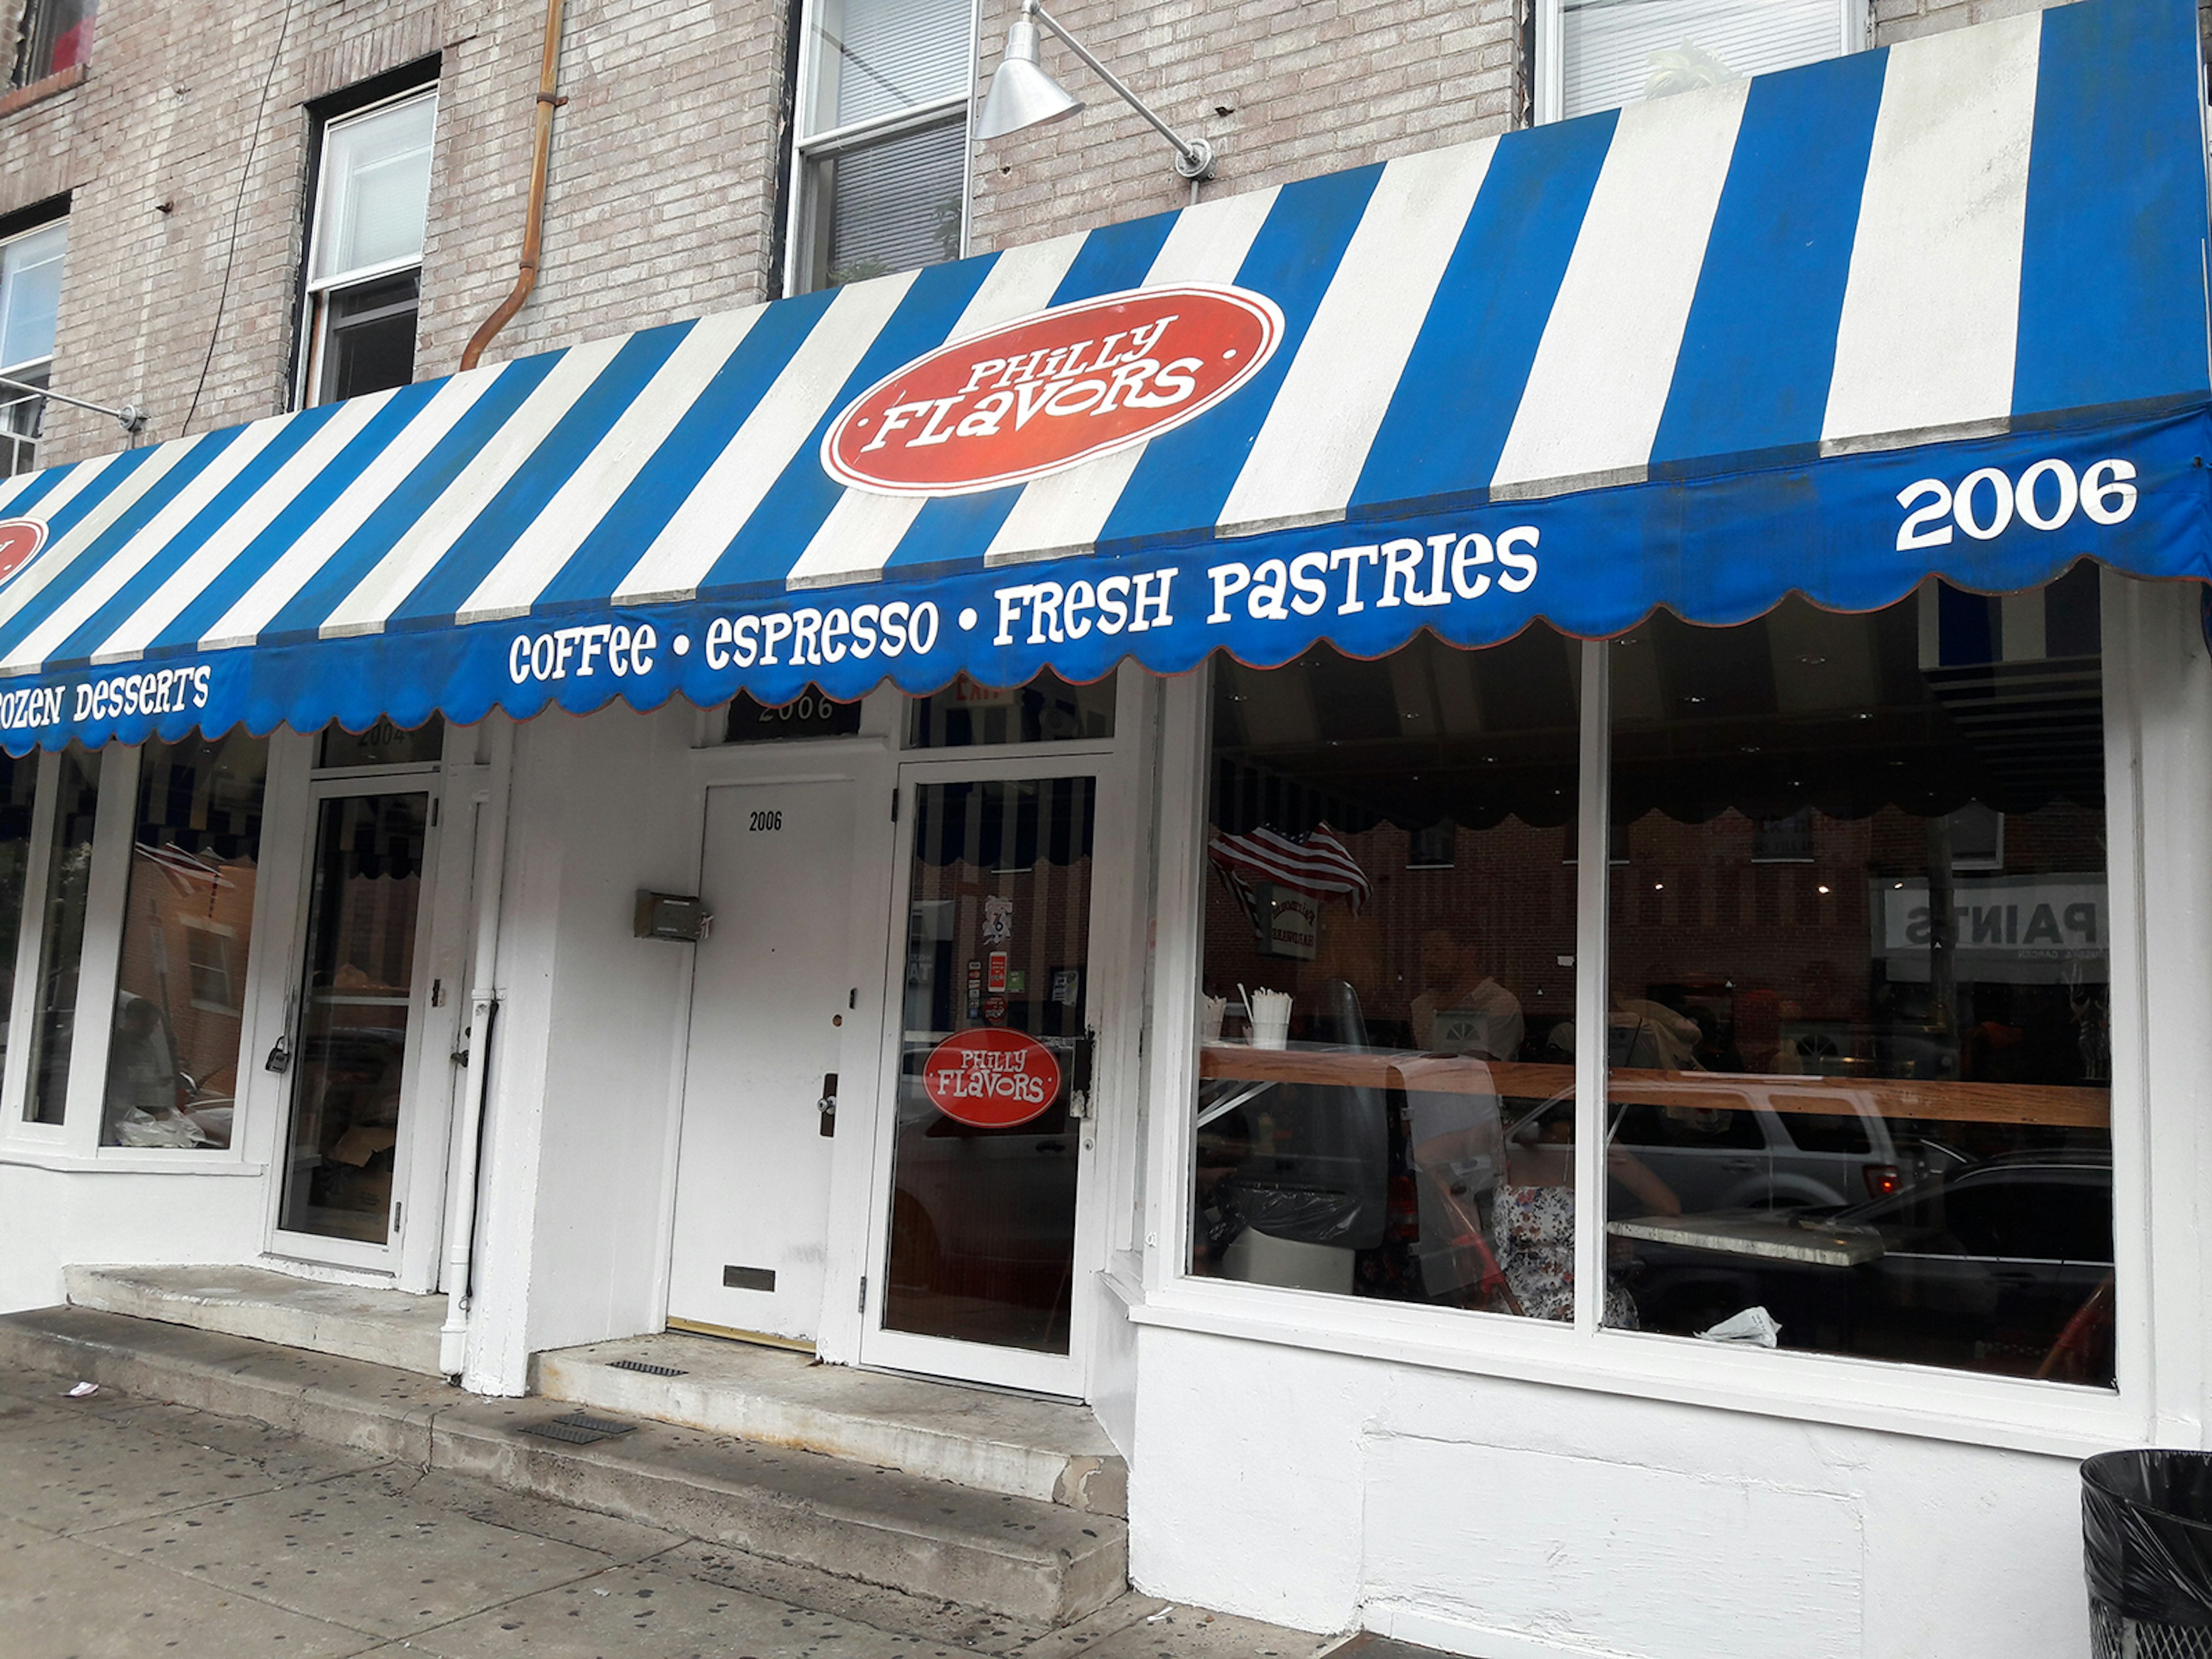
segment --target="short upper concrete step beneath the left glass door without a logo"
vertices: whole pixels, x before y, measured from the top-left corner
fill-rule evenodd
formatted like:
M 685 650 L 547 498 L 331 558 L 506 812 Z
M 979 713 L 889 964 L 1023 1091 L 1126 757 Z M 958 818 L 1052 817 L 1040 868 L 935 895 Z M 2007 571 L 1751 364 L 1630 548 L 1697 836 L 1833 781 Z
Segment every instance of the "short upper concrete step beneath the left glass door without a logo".
M 73 1307 L 438 1376 L 445 1296 L 327 1285 L 265 1267 L 66 1267 Z

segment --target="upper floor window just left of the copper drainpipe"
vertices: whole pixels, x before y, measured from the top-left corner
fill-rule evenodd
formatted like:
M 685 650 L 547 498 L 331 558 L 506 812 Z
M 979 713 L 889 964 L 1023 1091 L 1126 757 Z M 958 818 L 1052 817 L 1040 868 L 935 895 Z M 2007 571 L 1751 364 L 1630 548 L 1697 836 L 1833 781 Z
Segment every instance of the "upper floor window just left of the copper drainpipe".
M 414 380 L 436 119 L 438 95 L 422 91 L 323 126 L 301 403 Z

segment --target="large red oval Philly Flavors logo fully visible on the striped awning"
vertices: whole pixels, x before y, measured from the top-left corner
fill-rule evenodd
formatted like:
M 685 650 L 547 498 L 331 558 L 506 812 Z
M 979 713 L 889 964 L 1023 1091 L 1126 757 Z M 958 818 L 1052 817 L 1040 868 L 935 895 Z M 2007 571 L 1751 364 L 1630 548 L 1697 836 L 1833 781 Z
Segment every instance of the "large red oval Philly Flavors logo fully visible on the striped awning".
M 1133 288 L 940 345 L 869 387 L 823 471 L 887 495 L 969 495 L 1194 420 L 1250 380 L 1283 312 L 1245 288 Z

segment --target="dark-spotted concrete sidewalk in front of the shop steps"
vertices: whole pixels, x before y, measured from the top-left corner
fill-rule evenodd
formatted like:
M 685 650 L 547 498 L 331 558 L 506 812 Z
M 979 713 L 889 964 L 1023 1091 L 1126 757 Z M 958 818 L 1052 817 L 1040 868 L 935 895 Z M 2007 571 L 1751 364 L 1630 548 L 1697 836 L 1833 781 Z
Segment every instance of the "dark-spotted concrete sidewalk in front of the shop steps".
M 1124 1595 L 1046 1630 L 246 1418 L 0 1369 L 9 1659 L 1316 1659 Z

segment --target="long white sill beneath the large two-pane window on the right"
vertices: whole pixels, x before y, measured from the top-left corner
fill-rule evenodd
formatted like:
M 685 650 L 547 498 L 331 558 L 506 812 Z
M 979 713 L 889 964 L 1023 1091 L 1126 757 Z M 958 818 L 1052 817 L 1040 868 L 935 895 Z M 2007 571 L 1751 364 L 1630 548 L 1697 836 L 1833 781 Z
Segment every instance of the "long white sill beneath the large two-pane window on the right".
M 1688 1336 L 1584 1334 L 1566 1325 L 1360 1303 L 1265 1285 L 1177 1279 L 1137 1292 L 1108 1274 L 1137 1325 L 1345 1354 L 1436 1371 L 1544 1383 L 1637 1400 L 2057 1458 L 2143 1444 L 2124 1394 L 1832 1354 L 1728 1349 Z

